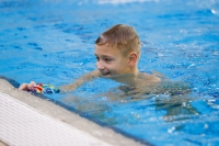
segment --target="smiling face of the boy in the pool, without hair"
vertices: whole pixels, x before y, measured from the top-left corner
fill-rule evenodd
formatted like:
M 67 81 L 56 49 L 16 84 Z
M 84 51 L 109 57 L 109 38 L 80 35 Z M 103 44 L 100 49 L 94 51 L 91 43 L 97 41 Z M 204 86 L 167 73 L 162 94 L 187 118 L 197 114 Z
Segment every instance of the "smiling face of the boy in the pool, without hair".
M 103 77 L 116 77 L 129 72 L 128 57 L 110 45 L 95 45 L 96 68 Z

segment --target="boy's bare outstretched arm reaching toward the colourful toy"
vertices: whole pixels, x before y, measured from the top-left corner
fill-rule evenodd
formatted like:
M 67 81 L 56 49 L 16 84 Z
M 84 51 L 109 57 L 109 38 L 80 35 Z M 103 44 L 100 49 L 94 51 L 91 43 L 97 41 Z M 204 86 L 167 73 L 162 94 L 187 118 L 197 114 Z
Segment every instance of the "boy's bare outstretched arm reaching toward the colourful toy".
M 92 72 L 89 72 L 89 74 L 80 77 L 79 79 L 77 79 L 73 83 L 60 87 L 60 89 L 62 91 L 76 90 L 78 87 L 80 87 L 84 82 L 90 81 L 90 80 L 92 80 L 92 79 L 94 79 L 96 77 L 100 77 L 100 71 L 99 70 L 94 70 Z

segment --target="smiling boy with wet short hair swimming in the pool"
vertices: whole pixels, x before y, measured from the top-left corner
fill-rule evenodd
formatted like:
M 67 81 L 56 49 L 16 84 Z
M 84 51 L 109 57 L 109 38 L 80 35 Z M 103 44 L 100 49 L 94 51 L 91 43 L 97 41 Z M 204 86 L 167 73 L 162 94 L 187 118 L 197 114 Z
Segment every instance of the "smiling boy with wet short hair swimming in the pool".
M 61 87 L 64 91 L 74 90 L 96 77 L 113 79 L 138 92 L 161 81 L 155 75 L 139 72 L 140 40 L 131 26 L 117 24 L 101 34 L 95 42 L 95 56 L 97 70 L 82 76 L 72 85 Z M 23 83 L 19 89 L 30 90 L 33 85 L 36 83 Z

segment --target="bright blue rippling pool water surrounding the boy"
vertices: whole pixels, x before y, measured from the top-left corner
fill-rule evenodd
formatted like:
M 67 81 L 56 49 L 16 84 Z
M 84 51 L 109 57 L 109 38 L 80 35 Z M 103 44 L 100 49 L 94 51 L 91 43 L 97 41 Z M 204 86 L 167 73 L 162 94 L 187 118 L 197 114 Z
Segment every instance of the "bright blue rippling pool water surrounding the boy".
M 141 71 L 189 82 L 186 97 L 131 100 L 118 82 L 95 79 L 46 94 L 103 126 L 152 145 L 219 145 L 218 0 L 1 0 L 0 75 L 62 86 L 95 69 L 96 37 L 117 23 L 141 43 Z

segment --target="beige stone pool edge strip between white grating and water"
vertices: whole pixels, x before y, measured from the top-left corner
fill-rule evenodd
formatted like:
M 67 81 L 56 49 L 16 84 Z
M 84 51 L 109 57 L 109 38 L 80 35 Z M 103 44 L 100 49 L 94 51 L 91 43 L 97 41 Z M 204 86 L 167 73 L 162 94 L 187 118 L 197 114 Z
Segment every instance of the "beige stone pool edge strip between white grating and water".
M 12 98 L 14 98 L 14 100 L 16 99 L 19 101 L 22 101 L 28 104 L 30 106 L 38 110 L 39 112 L 60 121 L 61 123 L 68 124 L 69 126 L 83 131 L 90 134 L 91 136 L 100 141 L 103 141 L 110 145 L 114 145 L 114 146 L 124 146 L 124 145 L 142 146 L 145 145 L 131 138 L 127 138 L 124 135 L 114 132 L 112 128 L 102 127 L 97 125 L 96 123 L 91 122 L 87 119 L 83 119 L 79 116 L 78 114 L 72 113 L 50 101 L 41 99 L 25 91 L 19 91 L 16 88 L 10 85 L 5 79 L 0 79 L 0 92 L 7 93 L 11 96 Z M 84 141 L 85 141 L 85 137 L 84 137 Z

